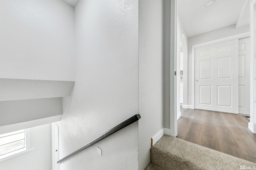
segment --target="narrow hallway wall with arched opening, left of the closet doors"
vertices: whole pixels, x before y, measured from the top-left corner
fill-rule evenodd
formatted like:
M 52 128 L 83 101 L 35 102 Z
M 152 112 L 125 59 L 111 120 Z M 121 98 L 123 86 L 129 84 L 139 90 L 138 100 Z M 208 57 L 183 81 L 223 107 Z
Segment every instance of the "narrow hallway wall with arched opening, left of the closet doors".
M 180 16 L 178 15 L 177 17 L 177 39 L 176 39 L 176 113 L 179 114 L 180 113 L 180 62 L 181 62 L 181 59 L 180 59 L 180 46 L 181 46 L 181 42 L 182 42 L 182 50 L 183 50 L 183 56 L 184 58 L 182 58 L 182 62 L 183 62 L 183 84 L 186 84 L 187 83 L 187 71 L 186 71 L 186 64 L 187 64 L 187 44 L 184 43 L 184 40 L 182 40 L 182 36 L 185 37 L 185 41 L 188 42 L 188 38 L 187 38 L 187 35 L 186 35 L 186 31 L 183 27 L 183 24 L 182 24 L 182 21 L 180 19 Z M 186 89 L 185 89 L 186 90 Z M 185 94 L 184 94 L 185 93 Z M 183 97 L 183 104 L 186 105 L 186 91 L 183 92 L 184 94 L 184 97 Z M 179 118 L 179 117 L 178 117 Z

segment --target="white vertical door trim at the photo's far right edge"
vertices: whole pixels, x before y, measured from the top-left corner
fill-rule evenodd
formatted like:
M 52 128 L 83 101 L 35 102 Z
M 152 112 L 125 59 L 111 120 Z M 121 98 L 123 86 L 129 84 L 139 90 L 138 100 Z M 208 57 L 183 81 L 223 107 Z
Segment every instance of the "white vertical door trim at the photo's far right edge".
M 248 128 L 256 133 L 256 0 L 250 0 L 250 122 Z

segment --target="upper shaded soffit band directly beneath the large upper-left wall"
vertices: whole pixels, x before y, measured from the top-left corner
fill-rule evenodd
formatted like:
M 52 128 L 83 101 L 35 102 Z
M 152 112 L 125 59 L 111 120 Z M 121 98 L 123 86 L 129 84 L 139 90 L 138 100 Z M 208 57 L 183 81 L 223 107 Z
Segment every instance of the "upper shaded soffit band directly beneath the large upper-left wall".
M 70 96 L 74 82 L 0 78 L 0 102 Z

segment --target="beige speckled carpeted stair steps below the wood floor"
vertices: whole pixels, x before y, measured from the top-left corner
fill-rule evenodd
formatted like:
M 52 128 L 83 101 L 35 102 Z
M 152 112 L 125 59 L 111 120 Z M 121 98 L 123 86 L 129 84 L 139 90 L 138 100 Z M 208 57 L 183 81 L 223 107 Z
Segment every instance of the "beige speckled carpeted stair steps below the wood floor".
M 146 170 L 253 170 L 256 164 L 164 135 L 151 147 Z

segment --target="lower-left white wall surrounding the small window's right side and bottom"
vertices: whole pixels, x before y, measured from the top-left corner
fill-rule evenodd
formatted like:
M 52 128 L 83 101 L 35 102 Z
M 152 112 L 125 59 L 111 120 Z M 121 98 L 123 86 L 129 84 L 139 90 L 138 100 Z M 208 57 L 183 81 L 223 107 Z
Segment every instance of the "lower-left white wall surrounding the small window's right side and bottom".
M 51 124 L 30 128 L 30 139 L 35 149 L 0 162 L 1 170 L 51 169 Z

